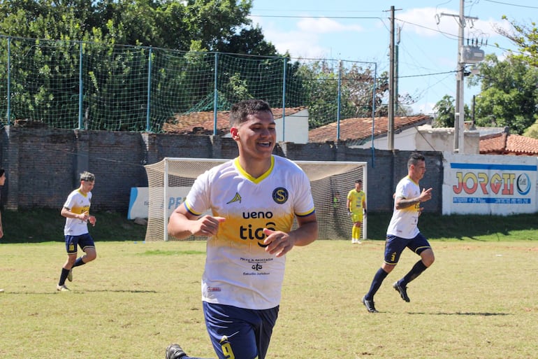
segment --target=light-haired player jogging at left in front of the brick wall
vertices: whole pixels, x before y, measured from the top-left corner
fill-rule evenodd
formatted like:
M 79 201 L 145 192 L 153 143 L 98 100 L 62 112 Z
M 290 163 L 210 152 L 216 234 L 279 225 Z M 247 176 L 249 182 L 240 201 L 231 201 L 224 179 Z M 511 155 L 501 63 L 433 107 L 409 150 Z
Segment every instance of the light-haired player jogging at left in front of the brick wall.
M 66 218 L 64 234 L 66 239 L 67 260 L 61 268 L 60 279 L 56 287 L 60 292 L 69 291 L 66 287 L 66 279 L 73 281 L 73 268 L 85 265 L 97 257 L 94 239 L 88 232 L 88 222 L 95 225 L 95 217 L 89 214 L 89 206 L 92 204 L 92 189 L 95 185 L 95 176 L 87 171 L 80 174 L 80 187 L 71 192 L 61 216 Z M 77 258 L 77 248 L 80 246 L 84 255 Z

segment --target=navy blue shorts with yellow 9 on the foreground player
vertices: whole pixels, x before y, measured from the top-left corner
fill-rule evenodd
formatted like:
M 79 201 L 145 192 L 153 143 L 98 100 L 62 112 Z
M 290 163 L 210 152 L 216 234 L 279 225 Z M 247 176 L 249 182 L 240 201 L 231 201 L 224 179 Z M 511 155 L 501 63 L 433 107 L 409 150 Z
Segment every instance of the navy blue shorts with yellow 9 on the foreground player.
M 205 326 L 219 359 L 264 359 L 279 307 L 242 309 L 203 302 Z

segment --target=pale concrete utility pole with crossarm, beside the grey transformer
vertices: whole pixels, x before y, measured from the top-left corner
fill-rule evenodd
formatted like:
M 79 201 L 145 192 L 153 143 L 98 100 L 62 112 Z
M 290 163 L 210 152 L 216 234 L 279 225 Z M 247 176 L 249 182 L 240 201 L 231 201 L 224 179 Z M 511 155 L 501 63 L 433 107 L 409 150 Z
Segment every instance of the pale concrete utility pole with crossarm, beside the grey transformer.
M 466 20 L 478 20 L 478 17 L 465 16 L 465 0 L 460 0 L 459 15 L 441 13 L 441 16 L 458 17 L 458 69 L 456 74 L 456 115 L 454 117 L 454 152 L 464 153 L 465 101 L 463 87 L 465 85 L 465 55 L 463 38 L 465 37 Z

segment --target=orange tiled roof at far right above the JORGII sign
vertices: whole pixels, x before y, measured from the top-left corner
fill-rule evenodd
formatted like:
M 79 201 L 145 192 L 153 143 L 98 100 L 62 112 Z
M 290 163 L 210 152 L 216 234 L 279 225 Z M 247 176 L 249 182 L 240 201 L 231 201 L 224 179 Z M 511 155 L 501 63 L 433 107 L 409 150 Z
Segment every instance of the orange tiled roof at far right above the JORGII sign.
M 484 155 L 538 155 L 538 139 L 506 132 L 481 136 L 479 146 Z

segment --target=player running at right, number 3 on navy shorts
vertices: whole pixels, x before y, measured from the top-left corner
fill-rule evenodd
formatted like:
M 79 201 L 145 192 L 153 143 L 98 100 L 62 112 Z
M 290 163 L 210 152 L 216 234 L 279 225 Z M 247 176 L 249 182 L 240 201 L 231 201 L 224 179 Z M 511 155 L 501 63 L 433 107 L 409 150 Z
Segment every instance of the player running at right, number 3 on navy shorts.
M 426 173 L 426 160 L 420 153 L 412 153 L 407 161 L 407 176 L 402 178 L 394 193 L 394 211 L 391 222 L 388 224 L 385 242 L 385 258 L 372 280 L 370 290 L 363 297 L 363 304 L 370 313 L 377 313 L 374 305 L 374 295 L 383 283 L 386 276 L 392 272 L 400 260 L 402 251 L 407 247 L 421 256 L 412 269 L 405 276 L 393 284 L 393 288 L 400 293 L 405 302 L 407 296 L 407 283 L 415 279 L 433 264 L 435 256 L 428 239 L 424 237 L 417 223 L 423 208 L 422 202 L 432 198 L 432 189 L 421 191 L 419 181 Z

